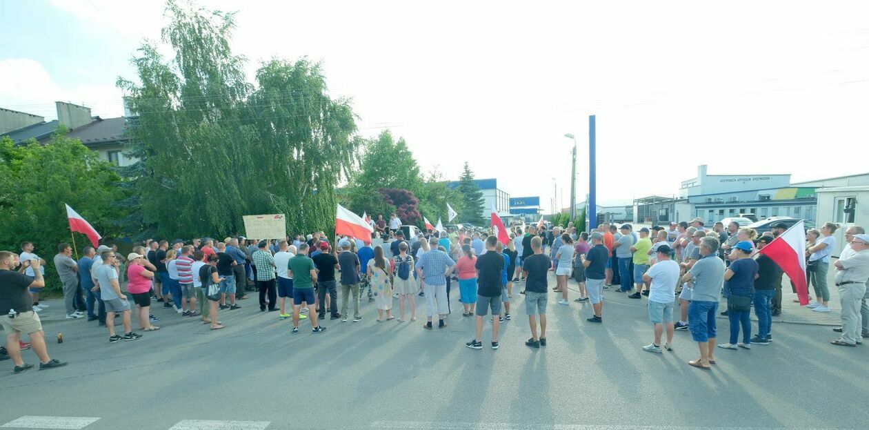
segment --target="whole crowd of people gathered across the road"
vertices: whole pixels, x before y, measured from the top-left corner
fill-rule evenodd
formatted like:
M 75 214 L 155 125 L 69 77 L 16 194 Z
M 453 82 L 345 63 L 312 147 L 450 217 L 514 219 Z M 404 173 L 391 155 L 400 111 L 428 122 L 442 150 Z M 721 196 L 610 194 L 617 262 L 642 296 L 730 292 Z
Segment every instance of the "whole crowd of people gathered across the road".
M 260 312 L 279 312 L 279 319 L 291 319 L 291 333 L 299 333 L 303 319 L 310 322 L 312 333 L 326 331 L 322 321 L 327 313 L 329 319 L 361 322 L 360 300 L 366 297 L 375 303 L 377 323 L 396 319 L 396 299 L 397 321 L 415 321 L 416 300 L 424 299 L 422 327 L 434 330 L 448 325 L 450 290 L 457 281 L 462 317 L 474 318 L 475 323 L 469 348 L 482 348 L 484 319 L 490 312 L 491 346 L 499 348 L 500 324 L 512 319 L 514 284 L 522 286 L 520 294 L 525 296 L 531 334 L 526 345 L 532 348 L 547 345 L 550 292 L 557 294 L 560 306 L 570 306 L 569 292 L 578 292 L 573 301 L 591 305 L 582 306 L 582 312 L 589 312 L 587 321 L 602 324 L 604 291 L 611 290 L 629 299 L 647 297 L 653 341 L 642 349 L 672 351 L 673 331 L 690 331 L 700 357 L 689 364 L 709 369 L 717 347 L 769 345 L 772 317 L 782 312 L 783 272 L 758 251 L 785 232 L 786 225 L 773 225 L 771 232 L 760 236 L 735 223 L 707 229 L 700 218 L 637 232 L 629 224 L 604 223 L 593 232 L 577 232 L 572 224 L 565 229 L 515 225 L 506 244 L 491 231 L 464 228 L 431 229 L 405 238 L 395 214 L 388 223 L 378 217 L 372 227 L 370 240 L 331 241 L 324 232 L 280 240 L 147 239 L 126 256 L 116 246 L 88 246 L 77 261 L 70 245 L 63 243 L 53 263 L 63 285 L 66 318 L 96 321 L 108 332 L 109 343 L 160 330 L 152 303 L 174 310 L 179 319 L 201 319 L 210 330 L 220 330 L 225 326 L 219 313 L 241 309 L 239 302 L 249 299 L 250 292 L 258 292 Z M 827 223 L 806 235 L 807 279 L 815 292 L 808 308 L 813 312 L 830 311 L 826 274 L 837 228 Z M 845 237 L 845 250 L 833 264 L 842 326 L 834 329 L 841 336 L 832 343 L 856 346 L 869 335 L 869 235 L 851 226 Z M 14 372 L 23 372 L 32 366 L 23 362 L 21 350 L 32 347 L 41 369 L 64 366 L 50 359 L 38 317 L 46 307 L 39 296 L 45 285 L 45 260 L 30 242 L 21 248 L 20 254 L 0 252 L 0 313 L 9 317 L 0 317 L 7 333 L 0 359 L 12 359 Z M 552 291 L 548 272 L 556 279 Z M 721 314 L 730 326 L 726 343 L 717 342 L 722 294 L 726 310 Z M 752 308 L 756 330 L 749 319 Z M 116 333 L 116 316 L 123 321 L 123 333 Z M 29 335 L 29 344 L 22 334 Z

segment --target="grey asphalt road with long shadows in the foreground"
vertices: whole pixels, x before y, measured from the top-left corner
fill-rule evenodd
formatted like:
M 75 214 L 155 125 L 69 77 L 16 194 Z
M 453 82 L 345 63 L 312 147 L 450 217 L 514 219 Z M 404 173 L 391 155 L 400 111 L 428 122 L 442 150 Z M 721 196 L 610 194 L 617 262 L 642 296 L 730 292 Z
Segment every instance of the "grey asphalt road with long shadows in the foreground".
M 421 328 L 424 318 L 377 323 L 367 301 L 362 322 L 327 320 L 320 334 L 303 320 L 302 333 L 292 335 L 289 320 L 259 312 L 255 299 L 222 312 L 227 328 L 216 332 L 155 309 L 162 330 L 116 344 L 96 322 L 49 322 L 47 338 L 64 335 L 63 344 L 50 342 L 50 354 L 70 365 L 13 374 L 4 361 L 0 427 L 567 430 L 869 422 L 869 344 L 832 346 L 829 326 L 775 324 L 772 345 L 719 349 L 718 364 L 706 372 L 687 365 L 698 356 L 690 333 L 676 332 L 673 353 L 640 349 L 652 339 L 645 299 L 606 303 L 604 324 L 596 326 L 585 321 L 590 305 L 559 306 L 552 294 L 548 345 L 534 350 L 524 345 L 529 330 L 517 288 L 501 349 L 488 347 L 487 324 L 484 349 L 475 351 L 464 346 L 474 323 L 461 317 L 457 293 L 448 327 L 431 332 Z M 395 308 L 397 314 L 397 301 Z M 719 332 L 729 333 L 724 319 Z M 24 357 L 36 362 L 30 351 Z

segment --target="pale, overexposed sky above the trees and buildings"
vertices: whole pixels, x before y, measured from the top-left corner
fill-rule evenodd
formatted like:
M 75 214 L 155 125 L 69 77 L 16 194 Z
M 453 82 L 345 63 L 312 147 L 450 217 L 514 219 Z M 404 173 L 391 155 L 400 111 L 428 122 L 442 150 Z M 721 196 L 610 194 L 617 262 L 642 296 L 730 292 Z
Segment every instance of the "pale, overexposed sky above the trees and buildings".
M 869 171 L 869 2 L 269 2 L 236 10 L 232 49 L 322 61 L 362 136 L 388 128 L 422 171 L 497 178 L 511 197 L 569 206 L 677 194 L 709 174 Z M 117 77 L 159 40 L 156 0 L 0 0 L 0 107 L 54 118 L 56 100 L 123 115 Z M 169 52 L 169 51 L 166 51 Z

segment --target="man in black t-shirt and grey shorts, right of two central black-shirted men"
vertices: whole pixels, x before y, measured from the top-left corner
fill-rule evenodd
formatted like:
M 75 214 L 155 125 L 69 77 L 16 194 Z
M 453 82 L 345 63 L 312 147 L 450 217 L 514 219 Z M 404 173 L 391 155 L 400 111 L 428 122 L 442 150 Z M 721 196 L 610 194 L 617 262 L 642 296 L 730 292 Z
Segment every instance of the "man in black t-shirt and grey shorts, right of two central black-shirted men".
M 552 260 L 543 254 L 543 240 L 540 237 L 531 239 L 531 249 L 534 255 L 522 261 L 522 272 L 525 274 L 525 312 L 528 314 L 528 325 L 531 326 L 531 339 L 525 345 L 532 348 L 546 346 L 546 304 L 548 293 L 547 273 L 552 266 Z M 537 335 L 537 317 L 541 320 L 541 333 Z

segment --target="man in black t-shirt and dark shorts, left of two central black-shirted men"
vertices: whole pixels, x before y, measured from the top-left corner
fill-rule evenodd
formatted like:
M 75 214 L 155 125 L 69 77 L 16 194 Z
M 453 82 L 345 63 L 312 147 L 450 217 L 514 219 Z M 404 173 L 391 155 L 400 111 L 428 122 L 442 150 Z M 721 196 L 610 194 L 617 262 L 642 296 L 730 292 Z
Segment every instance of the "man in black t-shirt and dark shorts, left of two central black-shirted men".
M 468 348 L 482 349 L 483 317 L 489 309 L 492 310 L 492 349 L 498 349 L 498 329 L 501 327 L 501 270 L 504 269 L 504 258 L 496 252 L 498 238 L 486 238 L 486 253 L 477 257 L 474 268 L 477 269 L 477 310 L 476 337 L 465 344 Z

